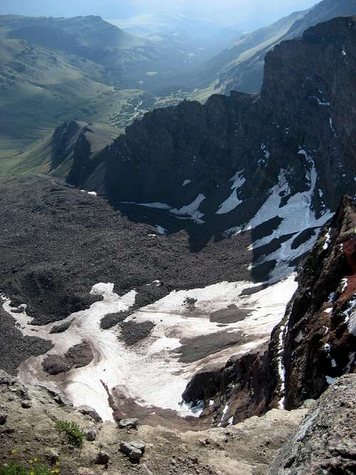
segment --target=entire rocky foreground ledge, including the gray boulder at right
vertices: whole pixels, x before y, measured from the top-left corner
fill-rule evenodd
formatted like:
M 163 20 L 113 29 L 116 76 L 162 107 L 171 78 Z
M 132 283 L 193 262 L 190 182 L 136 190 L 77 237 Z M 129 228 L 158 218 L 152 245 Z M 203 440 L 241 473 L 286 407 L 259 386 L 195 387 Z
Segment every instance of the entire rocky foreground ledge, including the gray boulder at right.
M 38 459 L 66 475 L 353 474 L 355 395 L 356 375 L 347 375 L 300 409 L 273 409 L 227 429 L 179 432 L 100 422 L 90 408 L 67 406 L 58 395 L 0 372 L 0 466 Z M 81 447 L 58 432 L 59 421 L 83 429 Z M 130 459 L 127 447 L 137 444 L 143 454 Z

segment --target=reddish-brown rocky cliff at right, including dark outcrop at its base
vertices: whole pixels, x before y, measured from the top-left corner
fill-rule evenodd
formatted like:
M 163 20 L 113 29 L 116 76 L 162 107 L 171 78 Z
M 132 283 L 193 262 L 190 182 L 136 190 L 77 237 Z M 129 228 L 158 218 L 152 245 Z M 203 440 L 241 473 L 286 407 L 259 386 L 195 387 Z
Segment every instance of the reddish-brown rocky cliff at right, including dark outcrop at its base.
M 226 425 L 271 407 L 300 407 L 355 372 L 355 231 L 355 203 L 345 197 L 300 266 L 298 291 L 268 348 L 199 372 L 184 400 L 214 400 L 216 423 Z

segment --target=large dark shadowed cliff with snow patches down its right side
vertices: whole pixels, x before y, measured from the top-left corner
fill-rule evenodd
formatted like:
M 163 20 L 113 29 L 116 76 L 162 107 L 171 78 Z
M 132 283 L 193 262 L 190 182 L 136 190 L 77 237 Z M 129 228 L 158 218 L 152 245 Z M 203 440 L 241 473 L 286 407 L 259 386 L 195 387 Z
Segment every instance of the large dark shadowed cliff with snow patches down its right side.
M 355 51 L 354 18 L 310 28 L 268 54 L 261 97 L 155 110 L 71 181 L 171 231 L 251 231 L 253 267 L 281 275 L 355 194 Z

